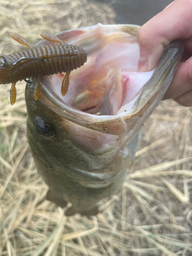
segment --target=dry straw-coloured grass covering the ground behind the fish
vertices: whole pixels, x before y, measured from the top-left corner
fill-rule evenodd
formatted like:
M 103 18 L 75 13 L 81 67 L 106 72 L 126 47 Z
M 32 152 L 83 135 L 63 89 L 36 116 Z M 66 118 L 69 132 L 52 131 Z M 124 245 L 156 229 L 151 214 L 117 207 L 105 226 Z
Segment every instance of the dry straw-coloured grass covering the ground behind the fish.
M 8 32 L 33 43 L 41 32 L 113 17 L 111 7 L 87 0 L 2 0 L 0 49 L 15 50 Z M 17 84 L 14 106 L 9 89 L 0 87 L 0 255 L 192 255 L 191 109 L 162 102 L 144 125 L 122 193 L 101 202 L 97 217 L 66 217 L 44 200 L 48 188 L 28 148 L 25 83 Z

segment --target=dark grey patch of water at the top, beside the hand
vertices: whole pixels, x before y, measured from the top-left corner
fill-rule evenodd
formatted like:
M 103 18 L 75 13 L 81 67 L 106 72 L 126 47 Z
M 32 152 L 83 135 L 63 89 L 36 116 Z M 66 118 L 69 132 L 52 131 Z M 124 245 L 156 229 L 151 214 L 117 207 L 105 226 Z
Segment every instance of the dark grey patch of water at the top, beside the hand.
M 111 0 L 95 2 L 112 3 Z M 141 26 L 172 2 L 173 0 L 116 0 L 112 5 L 117 14 L 115 22 Z

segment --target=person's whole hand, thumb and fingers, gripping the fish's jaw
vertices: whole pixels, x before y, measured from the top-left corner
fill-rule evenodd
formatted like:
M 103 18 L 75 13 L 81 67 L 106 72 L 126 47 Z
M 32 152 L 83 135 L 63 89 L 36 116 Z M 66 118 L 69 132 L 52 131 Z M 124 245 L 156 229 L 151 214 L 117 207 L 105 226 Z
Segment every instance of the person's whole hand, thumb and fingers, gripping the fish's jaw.
M 179 39 L 184 54 L 164 99 L 174 98 L 192 106 L 192 1 L 176 0 L 145 23 L 137 33 L 140 49 L 138 71 L 151 71 L 170 41 Z

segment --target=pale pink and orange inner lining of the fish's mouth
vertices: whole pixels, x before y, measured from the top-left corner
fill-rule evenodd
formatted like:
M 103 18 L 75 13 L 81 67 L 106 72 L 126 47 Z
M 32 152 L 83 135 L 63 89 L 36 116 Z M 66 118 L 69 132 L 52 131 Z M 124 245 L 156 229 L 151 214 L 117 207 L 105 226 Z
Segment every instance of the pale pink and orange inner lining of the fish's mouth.
M 88 60 L 71 72 L 67 94 L 61 95 L 65 73 L 50 76 L 52 86 L 60 99 L 79 111 L 117 115 L 124 105 L 136 99 L 153 74 L 153 71 L 137 72 L 139 47 L 136 37 L 113 35 L 102 44 L 97 38 L 93 47 L 80 46 L 87 48 Z

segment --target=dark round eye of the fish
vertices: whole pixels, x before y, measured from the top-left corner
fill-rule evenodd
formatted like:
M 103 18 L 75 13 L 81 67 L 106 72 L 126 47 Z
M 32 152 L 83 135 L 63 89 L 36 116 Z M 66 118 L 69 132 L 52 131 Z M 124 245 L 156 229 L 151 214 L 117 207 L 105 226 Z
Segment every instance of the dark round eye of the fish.
M 35 129 L 39 135 L 44 137 L 52 138 L 55 136 L 54 127 L 51 124 L 44 122 L 42 119 L 37 120 Z

